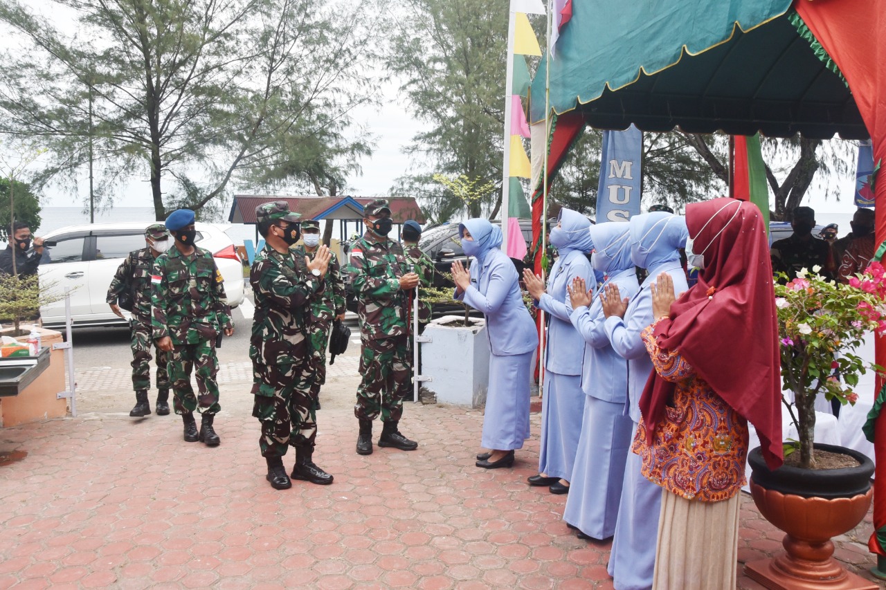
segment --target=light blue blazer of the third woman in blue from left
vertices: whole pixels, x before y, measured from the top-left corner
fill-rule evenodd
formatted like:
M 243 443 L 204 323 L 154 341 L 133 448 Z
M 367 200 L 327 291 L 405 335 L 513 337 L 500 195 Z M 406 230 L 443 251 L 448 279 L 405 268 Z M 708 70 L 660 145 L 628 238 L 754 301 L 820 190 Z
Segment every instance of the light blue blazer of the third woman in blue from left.
M 617 285 L 622 298 L 633 297 L 640 289 L 633 267 L 611 276 L 603 286 L 607 284 Z M 599 297 L 594 298 L 591 307 L 577 307 L 572 312 L 572 325 L 586 343 L 581 364 L 581 389 L 598 400 L 623 404 L 627 401 L 627 361 L 612 349 L 603 329 L 604 320 Z

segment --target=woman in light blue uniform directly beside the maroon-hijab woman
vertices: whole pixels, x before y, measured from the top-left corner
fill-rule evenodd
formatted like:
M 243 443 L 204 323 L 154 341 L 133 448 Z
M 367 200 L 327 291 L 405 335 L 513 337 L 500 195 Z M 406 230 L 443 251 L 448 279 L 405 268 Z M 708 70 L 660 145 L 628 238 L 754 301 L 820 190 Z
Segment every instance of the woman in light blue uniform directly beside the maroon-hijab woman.
M 689 237 L 686 220 L 672 213 L 645 213 L 634 216 L 631 226 L 633 263 L 649 271 L 640 291 L 633 297 L 615 289 L 602 291 L 604 329 L 612 348 L 627 359 L 627 404 L 633 431 L 640 423 L 640 396 L 652 372 L 652 361 L 640 338 L 640 332 L 652 323 L 652 295 L 649 285 L 658 275 L 672 276 L 679 296 L 686 291 L 686 275 L 680 267 L 680 252 Z M 625 299 L 629 297 L 629 302 Z M 624 317 L 624 319 L 622 319 Z M 633 440 L 633 431 L 631 439 Z M 640 472 L 640 455 L 628 453 L 625 481 L 618 508 L 618 524 L 608 571 L 617 590 L 646 590 L 652 587 L 655 571 L 658 513 L 661 488 Z

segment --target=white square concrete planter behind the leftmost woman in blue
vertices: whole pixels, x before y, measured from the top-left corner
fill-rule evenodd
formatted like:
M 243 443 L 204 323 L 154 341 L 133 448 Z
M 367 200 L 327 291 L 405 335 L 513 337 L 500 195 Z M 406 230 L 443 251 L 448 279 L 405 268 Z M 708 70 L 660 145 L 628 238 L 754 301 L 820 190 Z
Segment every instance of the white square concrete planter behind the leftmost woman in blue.
M 486 321 L 471 318 L 464 327 L 463 316 L 444 315 L 424 329 L 431 342 L 422 343 L 422 373 L 433 381 L 423 387 L 437 395 L 438 403 L 482 408 L 489 386 L 489 338 Z M 453 325 L 445 325 L 448 323 Z

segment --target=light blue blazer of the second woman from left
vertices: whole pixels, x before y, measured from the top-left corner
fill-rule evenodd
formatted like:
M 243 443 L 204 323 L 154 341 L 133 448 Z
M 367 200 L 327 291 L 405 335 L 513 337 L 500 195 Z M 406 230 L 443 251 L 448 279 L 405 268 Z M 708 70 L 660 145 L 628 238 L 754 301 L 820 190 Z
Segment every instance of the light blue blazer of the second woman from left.
M 535 304 L 535 307 L 550 315 L 545 367 L 559 375 L 581 375 L 585 341 L 572 326 L 572 304 L 566 287 L 577 276 L 584 279 L 588 287 L 595 287 L 594 269 L 587 257 L 575 250 L 558 261 L 560 263 L 551 268 L 551 276 L 548 277 L 548 292 Z

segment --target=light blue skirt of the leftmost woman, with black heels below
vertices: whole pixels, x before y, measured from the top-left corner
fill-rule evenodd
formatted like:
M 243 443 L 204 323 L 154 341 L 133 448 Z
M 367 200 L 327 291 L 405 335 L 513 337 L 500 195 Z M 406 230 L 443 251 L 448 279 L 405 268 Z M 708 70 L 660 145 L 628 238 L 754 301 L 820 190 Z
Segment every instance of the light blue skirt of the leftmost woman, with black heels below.
M 489 355 L 489 389 L 483 416 L 483 439 L 488 449 L 523 448 L 529 438 L 529 369 L 532 352 Z

